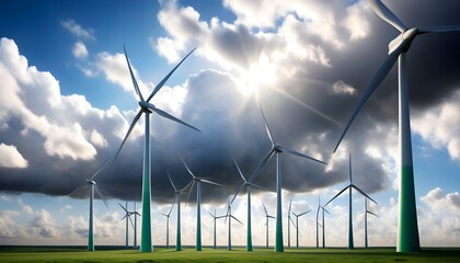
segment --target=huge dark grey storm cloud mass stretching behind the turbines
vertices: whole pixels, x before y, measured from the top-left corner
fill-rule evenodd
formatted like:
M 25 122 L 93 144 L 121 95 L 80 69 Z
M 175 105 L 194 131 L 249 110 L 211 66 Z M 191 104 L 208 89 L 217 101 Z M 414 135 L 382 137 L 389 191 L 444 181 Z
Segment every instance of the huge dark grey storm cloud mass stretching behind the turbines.
M 387 2 L 407 26 L 460 24 L 459 1 Z M 337 8 L 337 4 L 334 4 L 334 9 L 337 12 L 337 21 L 341 21 L 344 14 L 340 12 L 345 10 Z M 285 190 L 309 193 L 348 180 L 348 153 L 332 155 L 343 127 L 292 101 L 283 92 L 330 116 L 338 124 L 346 123 L 367 84 L 387 58 L 388 43 L 398 35 L 396 30 L 373 13 L 368 18 L 370 33 L 363 39 L 345 39 L 347 32 L 338 27 L 338 37 L 344 42 L 341 48 L 309 33 L 308 30 L 297 32 L 302 45 L 313 44 L 323 48 L 330 58 L 331 67 L 309 59 L 294 59 L 292 65 L 286 65 L 287 69 L 302 70 L 295 71 L 292 76 L 280 73 L 278 81 L 273 83 L 271 89 L 261 89 L 258 92 L 277 142 L 306 155 L 319 153 L 324 161 L 332 162 L 330 165 L 334 165 L 334 169 L 329 171 L 322 164 L 283 153 Z M 283 23 L 283 19 L 280 22 Z M 193 28 L 198 35 L 202 34 L 199 27 Z M 241 68 L 249 68 L 251 61 L 261 54 L 281 46 L 281 41 L 255 37 L 244 25 L 238 25 L 237 30 L 220 28 L 212 34 L 210 43 L 216 50 L 222 52 L 222 57 L 231 58 L 228 60 Z M 407 54 L 413 114 L 440 103 L 460 88 L 459 46 L 460 34 L 457 33 L 427 34 L 415 39 Z M 383 191 L 391 184 L 388 171 L 382 169 L 381 159 L 371 158 L 366 150 L 369 145 L 386 147 L 389 133 L 396 136 L 395 69 L 396 67 L 368 101 L 346 135 L 346 141 L 341 146 L 341 149 L 347 146 L 352 151 L 354 181 L 368 193 Z M 357 94 L 331 94 L 331 88 L 337 81 L 355 88 Z M 226 185 L 223 188 L 204 185 L 204 202 L 225 202 L 242 183 L 232 157 L 249 178 L 269 150 L 271 144 L 262 115 L 254 95 L 245 96 L 239 92 L 237 80 L 230 73 L 202 70 L 191 76 L 185 87 L 188 93 L 181 119 L 203 132 L 197 133 L 152 114 L 153 199 L 169 203 L 173 198 L 174 193 L 166 170 L 177 186 L 185 186 L 189 182 L 191 176 L 179 158 L 181 153 L 195 175 L 211 178 L 211 181 Z M 65 122 L 59 113 L 47 111 L 43 101 L 30 103 L 35 103 L 37 111 L 48 118 Z M 69 113 L 68 118 L 81 124 L 83 129 L 96 128 L 107 140 L 108 147 L 96 147 L 97 156 L 95 160 L 90 161 L 49 157 L 44 153 L 44 137 L 34 130 L 30 130 L 26 136 L 21 134 L 24 124 L 18 116 L 13 116 L 8 121 L 9 128 L 0 132 L 1 141 L 16 146 L 30 167 L 23 170 L 1 168 L 0 191 L 66 195 L 84 182 L 84 178 L 91 176 L 106 159 L 113 157 L 120 144 L 114 130 L 125 133 L 127 129 L 123 119 L 107 114 L 73 112 L 70 105 L 65 111 Z M 129 199 L 140 198 L 142 148 L 143 136 L 128 140 L 118 160 L 96 176 L 97 185 L 106 197 L 125 199 L 128 195 Z M 269 190 L 275 188 L 275 157 L 254 182 Z M 77 196 L 84 197 L 87 193 L 82 191 Z M 192 202 L 195 201 L 195 196 L 194 191 Z

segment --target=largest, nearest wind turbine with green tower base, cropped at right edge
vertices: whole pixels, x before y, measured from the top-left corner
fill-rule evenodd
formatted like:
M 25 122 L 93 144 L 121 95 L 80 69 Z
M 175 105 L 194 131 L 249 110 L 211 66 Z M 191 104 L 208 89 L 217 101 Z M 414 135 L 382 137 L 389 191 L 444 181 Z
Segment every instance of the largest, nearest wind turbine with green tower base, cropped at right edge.
M 344 138 L 346 132 L 355 121 L 367 100 L 377 90 L 393 65 L 398 61 L 399 68 L 399 140 L 400 140 L 400 192 L 399 192 L 399 221 L 398 221 L 398 252 L 417 252 L 421 250 L 418 237 L 417 211 L 415 204 L 414 169 L 412 161 L 412 138 L 409 105 L 409 90 L 405 54 L 416 36 L 425 33 L 442 33 L 460 31 L 460 26 L 434 26 L 426 28 L 407 28 L 398 16 L 391 12 L 380 0 L 369 0 L 373 12 L 387 23 L 401 32 L 389 44 L 389 56 L 380 66 L 370 81 L 358 105 L 354 110 L 344 132 L 338 139 L 334 152 Z

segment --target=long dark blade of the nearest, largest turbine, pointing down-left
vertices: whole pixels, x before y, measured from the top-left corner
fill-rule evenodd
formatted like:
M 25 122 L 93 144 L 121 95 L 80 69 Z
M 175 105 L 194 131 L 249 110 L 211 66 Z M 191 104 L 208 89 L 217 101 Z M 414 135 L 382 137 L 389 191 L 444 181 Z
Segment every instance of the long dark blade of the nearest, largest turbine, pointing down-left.
M 366 92 L 363 94 L 361 100 L 359 101 L 358 105 L 353 111 L 352 117 L 349 118 L 348 123 L 345 126 L 344 132 L 341 135 L 341 138 L 338 139 L 337 145 L 334 148 L 334 152 L 337 150 L 338 146 L 341 145 L 342 139 L 344 138 L 346 132 L 348 130 L 349 126 L 352 126 L 353 122 L 355 121 L 356 116 L 358 115 L 359 111 L 364 106 L 364 104 L 369 100 L 369 98 L 372 95 L 372 93 L 379 88 L 380 83 L 383 81 L 384 77 L 390 72 L 391 68 L 393 67 L 394 62 L 398 59 L 398 56 L 401 54 L 403 48 L 405 47 L 405 41 L 401 43 L 401 45 L 394 50 L 392 54 L 390 54 L 387 58 L 387 60 L 380 66 L 377 73 L 373 76 L 373 79 L 370 81 Z

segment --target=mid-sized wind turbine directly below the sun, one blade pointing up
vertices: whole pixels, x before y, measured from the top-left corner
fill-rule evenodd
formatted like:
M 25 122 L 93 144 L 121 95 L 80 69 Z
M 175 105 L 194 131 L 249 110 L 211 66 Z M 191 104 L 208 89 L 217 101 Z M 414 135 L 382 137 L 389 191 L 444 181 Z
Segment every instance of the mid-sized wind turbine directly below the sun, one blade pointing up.
M 302 157 L 310 159 L 312 161 L 320 162 L 322 164 L 327 164 L 323 161 L 317 160 L 312 157 L 306 156 L 303 153 L 294 151 L 291 149 L 285 148 L 281 145 L 275 141 L 275 138 L 272 135 L 272 132 L 268 127 L 267 121 L 264 115 L 264 111 L 262 110 L 261 103 L 258 103 L 261 107 L 262 117 L 264 118 L 265 129 L 267 132 L 268 138 L 272 142 L 271 150 L 266 153 L 264 159 L 262 159 L 258 167 L 255 169 L 254 173 L 250 178 L 250 182 L 254 179 L 255 175 L 262 170 L 263 167 L 267 163 L 267 161 L 276 155 L 276 238 L 275 238 L 275 251 L 276 252 L 284 252 L 284 244 L 283 244 L 283 208 L 281 208 L 281 155 L 283 152 L 290 153 L 292 156 Z

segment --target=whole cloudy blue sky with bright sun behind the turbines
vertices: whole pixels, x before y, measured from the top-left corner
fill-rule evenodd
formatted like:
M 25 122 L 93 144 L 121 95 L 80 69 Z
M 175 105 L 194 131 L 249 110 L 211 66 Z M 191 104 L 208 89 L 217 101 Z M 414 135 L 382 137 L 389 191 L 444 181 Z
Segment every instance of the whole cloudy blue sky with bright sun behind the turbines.
M 383 1 L 407 27 L 458 25 L 455 0 Z M 199 128 L 152 114 L 153 245 L 165 243 L 174 183 L 198 176 L 203 186 L 203 242 L 212 243 L 211 217 L 226 213 L 242 183 L 269 150 L 258 98 L 277 142 L 329 162 L 281 156 L 285 244 L 287 207 L 299 218 L 300 245 L 314 245 L 318 198 L 324 204 L 353 180 L 377 201 L 369 245 L 396 244 L 396 67 L 364 106 L 335 153 L 344 125 L 384 61 L 391 25 L 354 0 L 223 1 L 5 1 L 0 9 L 0 244 L 79 244 L 88 237 L 84 183 L 113 158 L 138 111 L 123 55 L 140 90 L 153 87 L 189 50 L 196 50 L 152 99 L 159 108 Z M 407 53 L 418 229 L 423 247 L 460 245 L 460 33 L 418 36 Z M 140 207 L 141 118 L 117 161 L 95 178 L 108 208 L 95 201 L 95 244 L 124 244 L 118 203 Z M 272 160 L 254 183 L 275 190 Z M 183 244 L 195 242 L 195 192 L 182 207 Z M 243 224 L 243 191 L 232 211 Z M 186 196 L 183 196 L 186 199 Z M 276 194 L 254 191 L 253 243 L 265 243 L 265 214 Z M 353 193 L 355 245 L 364 245 L 364 199 Z M 326 245 L 347 245 L 347 198 L 326 207 Z M 175 207 L 171 219 L 175 222 Z M 170 243 L 175 242 L 171 224 Z M 227 226 L 218 222 L 218 244 Z M 271 244 L 275 236 L 271 225 Z M 130 229 L 130 233 L 133 230 Z M 245 244 L 245 225 L 232 226 Z M 294 243 L 294 231 L 291 242 Z M 133 240 L 133 239 L 131 239 Z M 130 241 L 131 242 L 131 241 Z

